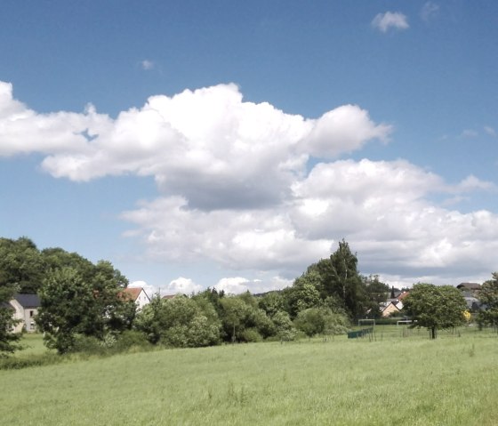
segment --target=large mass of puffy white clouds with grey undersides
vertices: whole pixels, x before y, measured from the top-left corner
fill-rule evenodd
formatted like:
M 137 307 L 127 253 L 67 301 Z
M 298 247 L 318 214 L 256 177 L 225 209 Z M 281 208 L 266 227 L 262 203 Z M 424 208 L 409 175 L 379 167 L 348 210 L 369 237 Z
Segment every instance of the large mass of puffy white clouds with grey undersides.
M 72 181 L 155 178 L 157 199 L 122 214 L 151 258 L 295 277 L 345 237 L 365 272 L 400 281 L 491 271 L 497 215 L 430 199 L 492 183 L 450 185 L 405 160 L 345 159 L 391 131 L 356 105 L 305 118 L 244 101 L 235 84 L 153 96 L 113 119 L 92 106 L 37 114 L 0 82 L 0 156 L 41 153 L 46 172 Z

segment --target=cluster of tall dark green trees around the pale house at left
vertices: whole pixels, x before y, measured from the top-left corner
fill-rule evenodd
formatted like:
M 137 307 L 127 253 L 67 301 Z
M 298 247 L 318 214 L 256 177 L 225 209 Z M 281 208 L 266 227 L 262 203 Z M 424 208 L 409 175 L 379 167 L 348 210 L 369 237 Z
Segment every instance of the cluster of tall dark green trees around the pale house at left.
M 49 347 L 64 353 L 76 334 L 104 340 L 109 331 L 132 326 L 135 305 L 119 296 L 125 285 L 126 278 L 107 261 L 93 265 L 61 248 L 40 252 L 27 237 L 0 238 L 0 351 L 12 349 L 16 339 L 9 333 L 12 315 L 5 305 L 14 291 L 39 293 L 37 326 L 46 332 Z

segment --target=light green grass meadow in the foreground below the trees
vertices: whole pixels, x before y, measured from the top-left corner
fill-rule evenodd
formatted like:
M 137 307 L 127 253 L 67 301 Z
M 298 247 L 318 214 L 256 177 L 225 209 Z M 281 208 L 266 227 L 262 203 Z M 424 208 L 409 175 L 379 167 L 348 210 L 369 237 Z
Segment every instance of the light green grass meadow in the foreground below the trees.
M 29 339 L 32 353 L 43 350 Z M 72 358 L 0 371 L 0 422 L 498 425 L 497 361 L 496 334 L 469 327 L 430 341 L 396 326 L 357 340 Z

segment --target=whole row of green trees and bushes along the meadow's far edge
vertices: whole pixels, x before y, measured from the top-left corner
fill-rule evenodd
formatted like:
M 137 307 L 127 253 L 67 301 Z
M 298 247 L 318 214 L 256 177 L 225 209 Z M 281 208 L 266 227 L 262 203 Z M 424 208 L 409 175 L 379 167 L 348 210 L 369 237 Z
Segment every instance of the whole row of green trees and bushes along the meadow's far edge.
M 494 274 L 491 284 L 483 285 L 487 306 L 494 309 L 486 311 L 486 321 L 494 324 L 498 316 L 490 312 L 498 309 L 497 278 Z M 13 319 L 7 305 L 14 293 L 38 293 L 36 326 L 48 348 L 66 353 L 84 338 L 112 345 L 129 333 L 169 347 L 289 341 L 299 333 L 326 338 L 345 333 L 357 317 L 379 317 L 380 303 L 390 291 L 378 277 L 359 274 L 357 254 L 344 240 L 330 257 L 309 265 L 281 291 L 232 295 L 207 288 L 171 299 L 157 295 L 137 311 L 124 296 L 127 285 L 108 261 L 93 264 L 61 248 L 38 250 L 27 237 L 0 238 L 0 352 L 17 349 L 19 336 L 10 333 Z M 414 285 L 406 300 L 406 311 L 434 336 L 438 328 L 462 319 L 462 294 L 446 287 Z

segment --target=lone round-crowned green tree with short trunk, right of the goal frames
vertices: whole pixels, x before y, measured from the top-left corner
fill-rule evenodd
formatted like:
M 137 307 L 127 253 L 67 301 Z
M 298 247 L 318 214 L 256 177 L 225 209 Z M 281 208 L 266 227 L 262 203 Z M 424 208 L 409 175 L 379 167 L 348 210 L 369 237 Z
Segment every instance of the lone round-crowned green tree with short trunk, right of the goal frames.
M 451 285 L 416 284 L 403 303 L 414 326 L 429 328 L 432 339 L 438 329 L 461 326 L 467 309 L 462 293 Z

